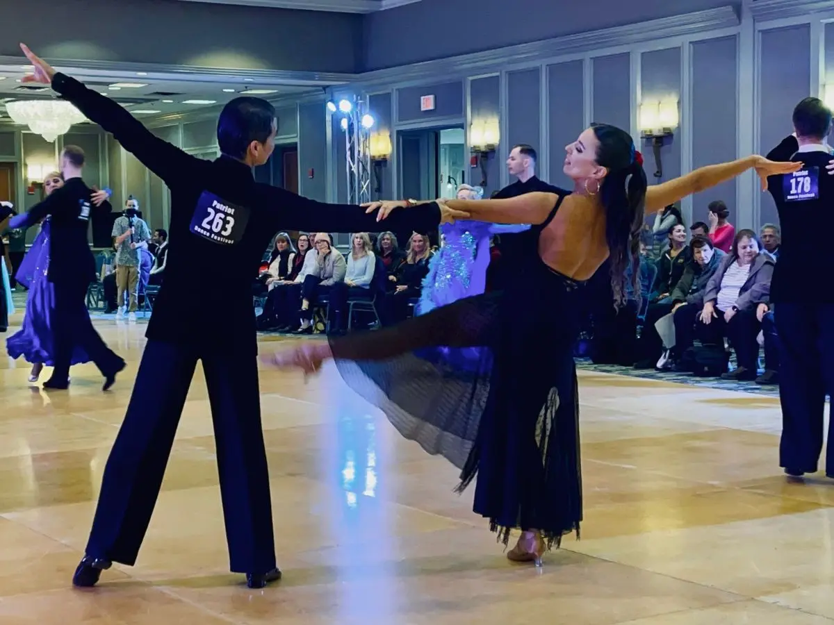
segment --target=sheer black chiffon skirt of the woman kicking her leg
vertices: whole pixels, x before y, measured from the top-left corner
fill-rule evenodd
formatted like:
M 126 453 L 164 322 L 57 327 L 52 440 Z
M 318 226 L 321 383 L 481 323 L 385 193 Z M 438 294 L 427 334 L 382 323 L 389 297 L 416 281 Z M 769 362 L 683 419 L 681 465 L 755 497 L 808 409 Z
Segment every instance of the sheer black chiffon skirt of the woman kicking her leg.
M 461 299 L 376 332 L 330 339 L 339 373 L 405 438 L 477 476 L 474 510 L 505 544 L 579 533 L 573 348 L 581 283 L 538 258 L 505 291 Z

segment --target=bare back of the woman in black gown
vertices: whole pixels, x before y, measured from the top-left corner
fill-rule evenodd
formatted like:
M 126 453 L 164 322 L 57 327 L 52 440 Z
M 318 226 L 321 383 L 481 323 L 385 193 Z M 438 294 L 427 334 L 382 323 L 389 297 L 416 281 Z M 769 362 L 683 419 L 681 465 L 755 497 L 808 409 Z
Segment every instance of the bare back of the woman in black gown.
M 539 256 L 548 267 L 574 278 L 587 280 L 608 258 L 605 241 L 605 209 L 581 195 L 564 199 L 553 220 L 541 231 Z

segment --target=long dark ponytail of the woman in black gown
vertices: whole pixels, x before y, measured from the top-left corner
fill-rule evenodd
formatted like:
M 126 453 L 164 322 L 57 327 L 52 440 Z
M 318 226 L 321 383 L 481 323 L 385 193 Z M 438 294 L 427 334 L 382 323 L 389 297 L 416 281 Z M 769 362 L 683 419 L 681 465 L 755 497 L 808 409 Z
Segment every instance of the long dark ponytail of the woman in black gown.
M 640 231 L 646 207 L 646 172 L 631 135 L 608 124 L 592 126 L 600 142 L 596 162 L 608 168 L 600 187 L 605 207 L 605 240 L 608 243 L 611 291 L 614 305 L 627 299 L 626 273 L 631 269 L 631 287 L 640 301 Z

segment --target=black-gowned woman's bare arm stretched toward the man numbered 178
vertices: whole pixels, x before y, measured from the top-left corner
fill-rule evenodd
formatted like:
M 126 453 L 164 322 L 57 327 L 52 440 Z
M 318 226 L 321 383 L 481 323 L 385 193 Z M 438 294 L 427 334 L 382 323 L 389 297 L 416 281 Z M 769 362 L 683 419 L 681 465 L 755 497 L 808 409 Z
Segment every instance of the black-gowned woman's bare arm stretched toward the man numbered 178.
M 675 178 L 668 183 L 658 184 L 646 189 L 646 213 L 655 213 L 669 204 L 676 203 L 687 195 L 706 191 L 727 180 L 741 176 L 748 169 L 756 169 L 761 179 L 761 188 L 766 190 L 767 178 L 781 173 L 796 172 L 802 163 L 776 163 L 764 157 L 753 155 L 739 158 L 731 163 L 719 163 L 698 168 L 686 176 Z

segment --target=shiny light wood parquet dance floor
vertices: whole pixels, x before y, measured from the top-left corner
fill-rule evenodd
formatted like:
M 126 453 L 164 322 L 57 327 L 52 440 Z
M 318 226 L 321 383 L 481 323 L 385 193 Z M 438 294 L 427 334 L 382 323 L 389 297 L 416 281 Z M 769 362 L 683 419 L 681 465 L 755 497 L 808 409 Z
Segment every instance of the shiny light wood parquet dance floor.
M 284 579 L 247 589 L 228 572 L 198 370 L 137 565 L 73 589 L 144 344 L 141 318 L 97 326 L 129 363 L 112 393 L 92 365 L 45 393 L 0 352 L 2 625 L 834 623 L 834 483 L 786 483 L 777 400 L 589 372 L 582 539 L 541 570 L 508 562 L 455 469 L 332 369 L 306 385 L 264 371 Z

